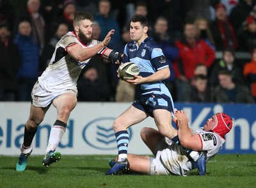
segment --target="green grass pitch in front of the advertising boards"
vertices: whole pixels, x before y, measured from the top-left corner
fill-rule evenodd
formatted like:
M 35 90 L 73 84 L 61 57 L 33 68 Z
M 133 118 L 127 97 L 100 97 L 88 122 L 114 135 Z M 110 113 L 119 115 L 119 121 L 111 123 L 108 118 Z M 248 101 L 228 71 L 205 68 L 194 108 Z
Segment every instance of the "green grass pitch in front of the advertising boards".
M 60 162 L 42 166 L 42 156 L 31 155 L 27 169 L 15 171 L 18 156 L 0 155 L 0 187 L 256 187 L 256 155 L 216 155 L 206 176 L 106 176 L 113 155 L 63 155 Z

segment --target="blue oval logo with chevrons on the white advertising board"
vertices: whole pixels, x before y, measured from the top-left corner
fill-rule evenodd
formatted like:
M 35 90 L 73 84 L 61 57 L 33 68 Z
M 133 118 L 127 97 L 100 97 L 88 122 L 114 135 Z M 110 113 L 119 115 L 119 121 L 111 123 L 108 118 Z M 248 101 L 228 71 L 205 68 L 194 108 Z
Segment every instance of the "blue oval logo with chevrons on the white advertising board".
M 88 145 L 100 150 L 116 150 L 116 137 L 112 127 L 115 118 L 103 117 L 87 123 L 83 129 L 83 139 Z M 131 128 L 127 129 L 130 140 Z

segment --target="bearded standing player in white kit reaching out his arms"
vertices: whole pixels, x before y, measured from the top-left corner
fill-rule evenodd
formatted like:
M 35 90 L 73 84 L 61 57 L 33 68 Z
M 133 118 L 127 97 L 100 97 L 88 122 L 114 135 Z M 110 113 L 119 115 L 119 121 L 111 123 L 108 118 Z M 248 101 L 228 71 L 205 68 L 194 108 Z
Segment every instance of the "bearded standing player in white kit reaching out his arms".
M 57 118 L 51 128 L 49 143 L 42 161 L 44 166 L 60 160 L 60 152 L 55 152 L 67 127 L 70 112 L 77 104 L 77 79 L 81 70 L 92 56 L 99 54 L 112 63 L 121 61 L 121 54 L 106 47 L 115 30 L 109 31 L 102 42 L 92 40 L 93 17 L 89 13 L 77 12 L 74 18 L 74 31 L 68 32 L 56 44 L 49 66 L 38 77 L 31 92 L 29 119 L 24 130 L 24 142 L 20 145 L 17 171 L 24 171 L 32 141 L 38 125 L 44 120 L 45 113 L 53 104 Z

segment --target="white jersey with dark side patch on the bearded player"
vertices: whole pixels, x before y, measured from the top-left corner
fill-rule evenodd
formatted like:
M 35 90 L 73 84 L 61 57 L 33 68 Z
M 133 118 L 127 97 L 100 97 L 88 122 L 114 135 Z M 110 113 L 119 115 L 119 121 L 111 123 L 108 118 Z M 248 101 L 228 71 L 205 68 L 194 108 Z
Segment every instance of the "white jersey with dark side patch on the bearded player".
M 38 82 L 45 91 L 52 92 L 76 87 L 81 70 L 87 65 L 91 58 L 86 59 L 85 61 L 77 61 L 72 58 L 66 51 L 66 47 L 74 45 L 75 43 L 78 43 L 83 48 L 88 48 L 97 45 L 99 41 L 92 40 L 92 42 L 84 45 L 79 41 L 73 31 L 64 35 L 56 44 L 55 51 L 48 67 L 43 74 L 38 77 Z M 104 52 L 102 51 L 103 50 L 100 50 L 98 54 Z

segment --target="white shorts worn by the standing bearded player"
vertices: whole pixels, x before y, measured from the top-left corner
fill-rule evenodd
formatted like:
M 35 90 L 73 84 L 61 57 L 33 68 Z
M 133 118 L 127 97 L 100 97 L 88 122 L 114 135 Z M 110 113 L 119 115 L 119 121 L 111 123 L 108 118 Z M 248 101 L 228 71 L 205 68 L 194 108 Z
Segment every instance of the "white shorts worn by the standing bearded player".
M 32 105 L 35 107 L 47 107 L 51 105 L 52 100 L 62 95 L 64 93 L 72 93 L 77 97 L 77 88 L 65 88 L 65 90 L 57 90 L 54 92 L 45 91 L 41 88 L 39 82 L 37 81 L 31 91 Z

